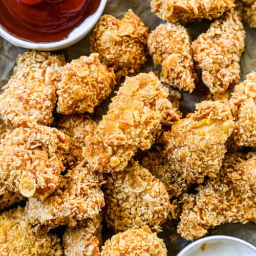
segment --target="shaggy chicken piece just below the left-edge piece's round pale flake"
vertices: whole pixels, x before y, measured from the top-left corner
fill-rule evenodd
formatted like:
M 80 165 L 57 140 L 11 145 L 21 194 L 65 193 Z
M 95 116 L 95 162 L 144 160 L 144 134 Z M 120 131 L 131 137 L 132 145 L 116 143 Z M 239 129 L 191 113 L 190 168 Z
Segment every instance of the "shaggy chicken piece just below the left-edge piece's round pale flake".
M 105 205 L 100 186 L 103 178 L 91 172 L 84 162 L 61 176 L 55 192 L 40 201 L 30 198 L 26 205 L 31 224 L 48 229 L 94 218 Z

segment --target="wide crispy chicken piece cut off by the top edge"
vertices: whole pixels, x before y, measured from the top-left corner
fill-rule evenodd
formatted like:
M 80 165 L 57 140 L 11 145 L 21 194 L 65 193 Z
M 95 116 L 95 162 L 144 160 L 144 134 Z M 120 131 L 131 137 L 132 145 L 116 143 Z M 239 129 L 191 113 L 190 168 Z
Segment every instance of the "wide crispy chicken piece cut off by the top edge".
M 234 7 L 234 0 L 152 0 L 151 11 L 168 22 L 185 24 L 216 19 Z

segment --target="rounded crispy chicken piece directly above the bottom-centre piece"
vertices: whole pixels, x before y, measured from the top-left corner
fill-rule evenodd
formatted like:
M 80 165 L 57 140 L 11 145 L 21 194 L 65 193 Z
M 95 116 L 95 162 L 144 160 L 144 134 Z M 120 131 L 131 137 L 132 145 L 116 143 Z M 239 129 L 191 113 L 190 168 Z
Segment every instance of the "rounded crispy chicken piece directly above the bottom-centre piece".
M 104 188 L 105 220 L 114 232 L 145 225 L 161 231 L 172 207 L 169 196 L 164 184 L 138 162 L 109 176 Z

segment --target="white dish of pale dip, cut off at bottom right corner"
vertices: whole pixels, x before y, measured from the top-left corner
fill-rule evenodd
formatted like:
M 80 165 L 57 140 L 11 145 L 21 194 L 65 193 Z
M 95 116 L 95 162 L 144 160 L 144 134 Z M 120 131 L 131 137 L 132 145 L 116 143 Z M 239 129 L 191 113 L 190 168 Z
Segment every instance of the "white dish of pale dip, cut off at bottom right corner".
M 255 256 L 256 247 L 229 236 L 199 239 L 181 250 L 177 256 Z

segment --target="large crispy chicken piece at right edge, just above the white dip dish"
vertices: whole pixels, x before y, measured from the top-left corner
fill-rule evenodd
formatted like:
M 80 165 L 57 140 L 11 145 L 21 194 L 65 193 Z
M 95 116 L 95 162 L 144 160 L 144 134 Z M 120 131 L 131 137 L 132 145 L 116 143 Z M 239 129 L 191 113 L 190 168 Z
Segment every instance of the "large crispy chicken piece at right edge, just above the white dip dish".
M 226 155 L 220 173 L 189 195 L 183 204 L 178 232 L 187 240 L 226 222 L 256 221 L 256 154 Z

